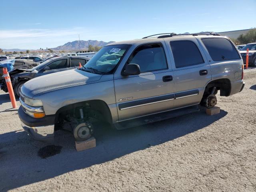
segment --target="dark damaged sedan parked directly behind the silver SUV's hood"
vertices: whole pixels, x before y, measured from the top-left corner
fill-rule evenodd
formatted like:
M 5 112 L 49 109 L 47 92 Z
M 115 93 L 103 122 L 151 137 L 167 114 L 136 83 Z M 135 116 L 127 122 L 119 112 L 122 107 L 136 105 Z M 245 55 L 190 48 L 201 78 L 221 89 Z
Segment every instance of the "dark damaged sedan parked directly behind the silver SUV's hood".
M 85 65 L 88 60 L 90 60 L 90 58 L 81 56 L 55 57 L 42 62 L 32 69 L 14 69 L 9 72 L 12 87 L 14 88 L 14 94 L 19 97 L 19 90 L 21 86 L 32 78 L 64 70 L 75 69 L 79 67 L 79 63 Z M 8 92 L 5 80 L 2 81 L 1 89 Z

